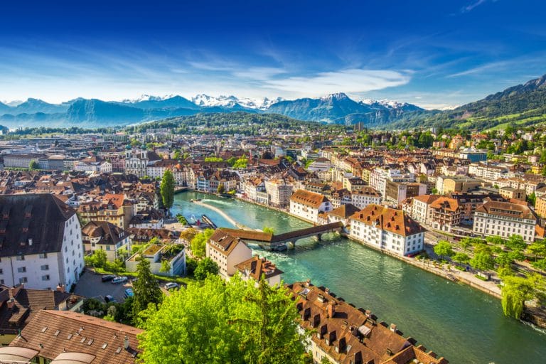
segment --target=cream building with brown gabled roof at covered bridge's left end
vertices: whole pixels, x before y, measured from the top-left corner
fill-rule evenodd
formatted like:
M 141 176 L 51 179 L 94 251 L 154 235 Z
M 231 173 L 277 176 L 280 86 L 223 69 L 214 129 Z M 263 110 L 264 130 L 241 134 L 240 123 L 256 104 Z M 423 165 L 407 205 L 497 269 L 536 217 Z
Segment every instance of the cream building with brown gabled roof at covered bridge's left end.
M 218 264 L 220 276 L 229 279 L 237 272 L 237 264 L 252 258 L 252 250 L 238 237 L 220 228 L 207 242 L 207 257 Z

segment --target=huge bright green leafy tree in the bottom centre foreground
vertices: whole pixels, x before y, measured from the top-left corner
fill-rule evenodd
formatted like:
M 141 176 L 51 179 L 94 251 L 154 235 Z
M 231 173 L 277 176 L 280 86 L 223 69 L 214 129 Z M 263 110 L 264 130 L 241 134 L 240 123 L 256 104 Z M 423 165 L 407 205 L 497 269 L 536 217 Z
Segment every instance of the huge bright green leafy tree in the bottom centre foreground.
M 210 276 L 167 296 L 139 335 L 156 363 L 302 363 L 296 303 L 284 287 Z

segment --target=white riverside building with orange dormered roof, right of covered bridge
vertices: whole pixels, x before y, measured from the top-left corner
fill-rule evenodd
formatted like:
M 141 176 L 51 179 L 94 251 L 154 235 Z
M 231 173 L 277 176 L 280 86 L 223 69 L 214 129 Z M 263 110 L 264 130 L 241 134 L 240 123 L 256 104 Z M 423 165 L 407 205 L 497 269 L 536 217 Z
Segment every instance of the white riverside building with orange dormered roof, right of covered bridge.
M 350 236 L 395 255 L 424 249 L 424 228 L 402 210 L 368 205 L 350 217 Z

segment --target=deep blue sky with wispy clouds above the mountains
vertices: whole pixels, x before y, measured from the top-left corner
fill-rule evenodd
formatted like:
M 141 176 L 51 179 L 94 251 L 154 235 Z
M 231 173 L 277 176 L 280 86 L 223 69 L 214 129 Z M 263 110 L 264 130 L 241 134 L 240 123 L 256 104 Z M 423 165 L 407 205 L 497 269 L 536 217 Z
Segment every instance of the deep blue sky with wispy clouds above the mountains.
M 173 2 L 2 4 L 0 100 L 346 92 L 446 107 L 546 73 L 545 1 Z

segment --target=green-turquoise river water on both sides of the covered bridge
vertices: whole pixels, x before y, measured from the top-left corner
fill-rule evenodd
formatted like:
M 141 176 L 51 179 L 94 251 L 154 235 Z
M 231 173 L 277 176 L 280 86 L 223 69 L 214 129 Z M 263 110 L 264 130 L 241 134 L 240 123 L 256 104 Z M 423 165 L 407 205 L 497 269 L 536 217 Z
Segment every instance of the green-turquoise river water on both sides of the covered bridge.
M 310 225 L 289 215 L 230 198 L 196 192 L 175 196 L 173 215 L 204 213 L 220 227 L 234 228 L 215 211 L 189 201 L 201 198 L 250 228 L 275 233 Z M 396 323 L 428 350 L 450 363 L 546 363 L 546 331 L 503 316 L 501 302 L 481 291 L 449 282 L 417 267 L 335 234 L 321 242 L 299 240 L 294 250 L 252 247 L 284 271 L 284 282 L 311 279 L 380 321 Z

